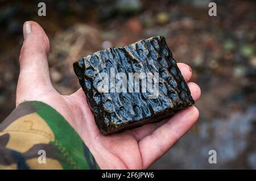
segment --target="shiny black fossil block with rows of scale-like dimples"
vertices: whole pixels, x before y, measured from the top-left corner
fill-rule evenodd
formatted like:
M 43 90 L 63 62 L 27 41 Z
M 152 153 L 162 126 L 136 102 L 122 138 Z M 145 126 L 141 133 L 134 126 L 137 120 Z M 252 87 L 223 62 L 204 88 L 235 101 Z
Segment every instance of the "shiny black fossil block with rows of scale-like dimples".
M 103 134 L 160 121 L 194 104 L 163 36 L 151 37 L 126 47 L 100 50 L 81 58 L 73 64 L 73 68 Z M 129 73 L 158 73 L 158 96 L 149 99 L 150 92 L 98 91 L 98 75 L 106 73 L 111 79 L 111 69 L 115 74 L 122 72 L 127 77 Z

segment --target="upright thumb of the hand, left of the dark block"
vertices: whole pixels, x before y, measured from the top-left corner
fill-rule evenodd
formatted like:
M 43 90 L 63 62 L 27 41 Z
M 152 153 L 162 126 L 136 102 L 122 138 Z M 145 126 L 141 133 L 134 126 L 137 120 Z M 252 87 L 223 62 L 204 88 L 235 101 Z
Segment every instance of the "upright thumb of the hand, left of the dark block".
M 36 91 L 52 89 L 47 61 L 49 40 L 46 33 L 38 23 L 30 21 L 23 25 L 23 36 L 16 105 L 30 100 L 28 96 L 33 96 Z

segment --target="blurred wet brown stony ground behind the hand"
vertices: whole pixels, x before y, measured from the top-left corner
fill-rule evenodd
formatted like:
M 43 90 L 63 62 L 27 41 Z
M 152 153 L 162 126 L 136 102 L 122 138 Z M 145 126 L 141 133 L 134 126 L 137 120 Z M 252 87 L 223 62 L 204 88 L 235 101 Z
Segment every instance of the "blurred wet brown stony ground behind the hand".
M 112 2 L 112 1 L 110 1 Z M 163 35 L 178 62 L 193 69 L 202 95 L 200 118 L 151 169 L 256 169 L 256 19 L 254 1 L 37 1 L 0 3 L 0 120 L 15 105 L 22 24 L 35 20 L 51 41 L 53 85 L 63 94 L 79 88 L 72 63 L 96 50 Z M 209 164 L 208 151 L 217 151 Z

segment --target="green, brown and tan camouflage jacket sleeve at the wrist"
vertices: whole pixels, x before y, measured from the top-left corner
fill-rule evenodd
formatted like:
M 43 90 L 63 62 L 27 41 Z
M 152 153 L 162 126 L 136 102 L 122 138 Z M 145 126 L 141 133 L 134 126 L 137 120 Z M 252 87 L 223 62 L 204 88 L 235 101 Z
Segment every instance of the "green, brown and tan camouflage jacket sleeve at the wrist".
M 20 104 L 0 124 L 0 169 L 99 169 L 80 136 L 42 102 Z

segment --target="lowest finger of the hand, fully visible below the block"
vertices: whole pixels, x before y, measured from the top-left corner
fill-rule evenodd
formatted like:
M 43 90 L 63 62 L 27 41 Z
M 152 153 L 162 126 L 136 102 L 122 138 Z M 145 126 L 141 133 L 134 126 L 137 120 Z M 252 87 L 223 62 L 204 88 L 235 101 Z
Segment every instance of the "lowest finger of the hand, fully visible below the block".
M 196 122 L 199 111 L 195 106 L 184 108 L 167 123 L 139 141 L 142 168 L 146 169 L 175 144 Z

